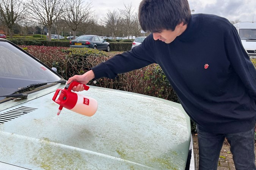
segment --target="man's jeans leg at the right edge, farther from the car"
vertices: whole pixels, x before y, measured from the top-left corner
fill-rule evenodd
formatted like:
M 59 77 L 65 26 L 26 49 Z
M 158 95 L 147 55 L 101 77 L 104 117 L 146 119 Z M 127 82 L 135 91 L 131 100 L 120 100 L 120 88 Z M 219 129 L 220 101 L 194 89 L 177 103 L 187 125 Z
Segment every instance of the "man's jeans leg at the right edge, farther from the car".
M 240 133 L 225 134 L 236 170 L 256 170 L 254 155 L 254 128 Z

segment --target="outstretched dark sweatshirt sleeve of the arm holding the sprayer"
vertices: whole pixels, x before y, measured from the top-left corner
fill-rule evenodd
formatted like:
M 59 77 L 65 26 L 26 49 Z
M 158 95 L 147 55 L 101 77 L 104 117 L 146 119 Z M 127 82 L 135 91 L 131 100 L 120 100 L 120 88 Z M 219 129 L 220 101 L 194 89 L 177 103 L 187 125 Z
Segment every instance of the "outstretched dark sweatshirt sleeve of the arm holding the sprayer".
M 95 75 L 94 79 L 96 80 L 101 77 L 114 79 L 117 74 L 140 69 L 155 63 L 153 59 L 154 54 L 150 48 L 150 42 L 152 40 L 153 37 L 148 36 L 143 43 L 134 47 L 132 50 L 117 54 L 107 61 L 91 68 Z

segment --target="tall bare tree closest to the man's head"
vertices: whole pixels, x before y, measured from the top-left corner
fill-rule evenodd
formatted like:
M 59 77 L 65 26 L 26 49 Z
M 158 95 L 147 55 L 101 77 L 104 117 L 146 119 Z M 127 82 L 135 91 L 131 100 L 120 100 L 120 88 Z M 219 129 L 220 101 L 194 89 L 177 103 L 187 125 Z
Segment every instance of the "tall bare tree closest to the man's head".
M 132 3 L 125 5 L 124 9 L 118 9 L 120 11 L 120 15 L 123 21 L 123 30 L 127 34 L 128 39 L 130 37 L 130 34 L 132 32 L 133 27 L 133 15 L 134 15 L 134 9 L 132 8 Z

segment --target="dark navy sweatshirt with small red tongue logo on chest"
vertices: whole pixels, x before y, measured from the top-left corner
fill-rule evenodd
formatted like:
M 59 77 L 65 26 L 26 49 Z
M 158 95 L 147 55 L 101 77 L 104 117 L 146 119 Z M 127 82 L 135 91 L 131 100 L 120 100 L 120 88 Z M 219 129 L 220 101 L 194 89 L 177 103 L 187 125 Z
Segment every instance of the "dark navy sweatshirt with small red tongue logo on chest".
M 256 71 L 236 28 L 216 15 L 194 14 L 166 44 L 150 34 L 141 45 L 92 68 L 95 79 L 161 66 L 196 124 L 212 133 L 250 130 L 256 119 Z

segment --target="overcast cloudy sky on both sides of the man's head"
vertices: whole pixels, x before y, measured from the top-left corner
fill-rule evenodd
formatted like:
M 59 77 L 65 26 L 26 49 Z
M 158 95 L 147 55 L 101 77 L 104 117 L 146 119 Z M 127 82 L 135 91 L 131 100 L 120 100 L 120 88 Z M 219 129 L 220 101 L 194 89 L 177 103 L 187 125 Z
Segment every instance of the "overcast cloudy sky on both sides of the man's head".
M 85 0 L 92 2 L 93 10 L 96 15 L 104 17 L 108 9 L 118 10 L 124 9 L 124 4 L 132 4 L 132 7 L 137 12 L 141 0 Z M 225 17 L 228 20 L 239 19 L 242 22 L 256 22 L 256 0 L 188 0 L 190 9 L 194 9 L 196 13 L 215 14 Z

